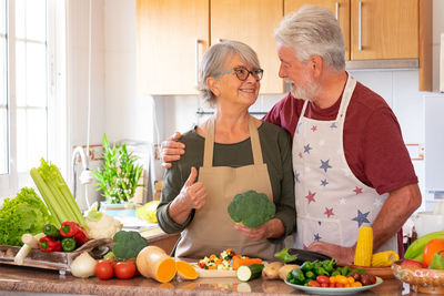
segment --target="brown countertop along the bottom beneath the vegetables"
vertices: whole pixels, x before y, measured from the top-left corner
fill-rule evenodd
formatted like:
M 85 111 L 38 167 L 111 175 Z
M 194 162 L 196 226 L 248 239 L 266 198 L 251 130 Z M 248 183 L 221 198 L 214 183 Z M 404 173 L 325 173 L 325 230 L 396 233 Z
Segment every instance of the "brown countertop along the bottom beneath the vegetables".
M 240 283 L 236 278 L 198 278 L 160 284 L 137 276 L 132 279 L 100 280 L 97 277 L 77 278 L 57 271 L 0 264 L 0 289 L 33 293 L 89 294 L 89 295 L 306 295 L 282 280 L 254 279 Z M 397 279 L 385 280 L 380 286 L 360 295 L 408 295 L 408 286 Z M 421 294 L 412 294 L 421 295 Z

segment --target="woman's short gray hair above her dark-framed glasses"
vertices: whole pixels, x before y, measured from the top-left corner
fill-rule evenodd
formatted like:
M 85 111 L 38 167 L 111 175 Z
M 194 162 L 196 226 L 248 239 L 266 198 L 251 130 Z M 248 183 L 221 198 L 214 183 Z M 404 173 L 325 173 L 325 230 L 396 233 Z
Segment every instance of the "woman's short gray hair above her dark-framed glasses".
M 215 96 L 206 85 L 206 79 L 210 76 L 216 78 L 224 71 L 225 63 L 234 55 L 238 54 L 242 61 L 251 65 L 253 69 L 260 69 L 258 54 L 255 51 L 239 41 L 223 41 L 211 45 L 202 57 L 201 65 L 199 69 L 199 83 L 198 91 L 204 102 L 214 106 Z

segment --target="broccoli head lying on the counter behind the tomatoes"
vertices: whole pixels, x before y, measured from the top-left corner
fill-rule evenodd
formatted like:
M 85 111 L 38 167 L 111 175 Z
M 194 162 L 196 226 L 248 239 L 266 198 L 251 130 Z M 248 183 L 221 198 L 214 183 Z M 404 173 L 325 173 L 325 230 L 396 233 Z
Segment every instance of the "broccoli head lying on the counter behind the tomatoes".
M 139 252 L 148 246 L 148 242 L 138 232 L 120 231 L 112 237 L 114 245 L 112 253 L 118 259 L 133 258 L 139 255 Z

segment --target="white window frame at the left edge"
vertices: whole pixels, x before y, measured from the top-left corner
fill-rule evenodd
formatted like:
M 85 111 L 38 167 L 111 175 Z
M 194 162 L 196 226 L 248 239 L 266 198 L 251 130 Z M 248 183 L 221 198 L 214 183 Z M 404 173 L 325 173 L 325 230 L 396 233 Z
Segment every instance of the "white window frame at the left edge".
M 29 1 L 29 0 L 28 0 Z M 9 172 L 0 174 L 0 203 L 23 186 L 36 187 L 29 172 L 17 170 L 16 0 L 7 2 L 7 104 Z M 65 1 L 47 0 L 47 155 L 62 174 L 68 171 L 65 82 Z M 39 164 L 37 163 L 36 166 Z

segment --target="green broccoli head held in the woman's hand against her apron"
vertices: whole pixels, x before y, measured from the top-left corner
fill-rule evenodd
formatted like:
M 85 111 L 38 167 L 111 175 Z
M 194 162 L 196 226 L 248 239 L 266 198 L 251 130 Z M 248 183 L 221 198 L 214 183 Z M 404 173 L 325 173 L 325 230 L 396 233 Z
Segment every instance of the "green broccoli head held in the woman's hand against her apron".
M 236 194 L 228 211 L 235 223 L 242 223 L 250 228 L 258 228 L 274 217 L 276 206 L 270 202 L 265 194 L 248 191 Z

